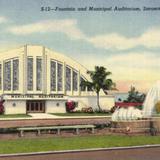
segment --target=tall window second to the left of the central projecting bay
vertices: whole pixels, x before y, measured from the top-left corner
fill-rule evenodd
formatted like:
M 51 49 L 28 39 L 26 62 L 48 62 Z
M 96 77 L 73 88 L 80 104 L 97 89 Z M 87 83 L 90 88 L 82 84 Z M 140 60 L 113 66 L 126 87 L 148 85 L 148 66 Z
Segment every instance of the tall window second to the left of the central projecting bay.
M 4 64 L 4 90 L 11 90 L 11 61 Z

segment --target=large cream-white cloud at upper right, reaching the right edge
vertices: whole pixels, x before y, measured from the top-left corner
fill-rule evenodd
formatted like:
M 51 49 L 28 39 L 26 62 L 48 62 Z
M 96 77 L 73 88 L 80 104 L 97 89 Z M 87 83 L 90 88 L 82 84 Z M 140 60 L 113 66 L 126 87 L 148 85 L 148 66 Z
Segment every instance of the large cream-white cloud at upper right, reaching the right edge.
M 160 27 L 149 29 L 142 35 L 134 38 L 111 33 L 88 38 L 88 41 L 96 47 L 111 50 L 126 50 L 137 46 L 155 48 L 160 47 Z

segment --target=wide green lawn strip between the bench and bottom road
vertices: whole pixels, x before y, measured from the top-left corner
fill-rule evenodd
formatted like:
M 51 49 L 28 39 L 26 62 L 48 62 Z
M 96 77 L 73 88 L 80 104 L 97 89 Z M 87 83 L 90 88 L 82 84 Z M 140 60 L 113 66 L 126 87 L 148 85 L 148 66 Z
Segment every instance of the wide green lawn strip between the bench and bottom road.
M 1 140 L 0 153 L 25 153 L 85 148 L 160 144 L 160 136 L 85 136 Z

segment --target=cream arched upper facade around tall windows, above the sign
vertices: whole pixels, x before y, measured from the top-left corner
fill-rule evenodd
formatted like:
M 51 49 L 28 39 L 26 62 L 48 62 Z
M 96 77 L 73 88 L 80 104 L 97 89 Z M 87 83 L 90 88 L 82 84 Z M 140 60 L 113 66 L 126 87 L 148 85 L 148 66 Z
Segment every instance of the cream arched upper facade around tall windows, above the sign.
M 27 71 L 28 71 L 28 58 L 33 58 L 33 90 L 27 89 Z M 37 90 L 37 58 L 42 60 L 42 89 Z M 19 87 L 18 90 L 13 90 L 13 60 L 17 59 L 19 61 Z M 56 63 L 56 67 L 58 64 L 62 65 L 62 90 L 58 90 L 58 75 L 56 70 L 56 89 L 51 91 L 51 61 Z M 10 89 L 5 89 L 3 84 L 5 84 L 4 80 L 4 66 L 6 62 L 11 63 L 11 87 Z M 0 73 L 0 94 L 66 94 L 66 67 L 71 69 L 71 89 L 67 91 L 69 95 L 81 95 L 80 90 L 80 77 L 83 77 L 85 80 L 89 80 L 90 77 L 87 74 L 87 69 L 77 63 L 76 61 L 68 58 L 60 53 L 55 51 L 51 51 L 43 46 L 34 46 L 34 45 L 25 45 L 19 49 L 10 50 L 1 54 L 0 58 L 1 65 L 1 73 Z M 73 73 L 77 74 L 77 90 L 73 88 Z M 31 75 L 31 74 L 30 74 Z M 8 82 L 8 80 L 7 80 Z

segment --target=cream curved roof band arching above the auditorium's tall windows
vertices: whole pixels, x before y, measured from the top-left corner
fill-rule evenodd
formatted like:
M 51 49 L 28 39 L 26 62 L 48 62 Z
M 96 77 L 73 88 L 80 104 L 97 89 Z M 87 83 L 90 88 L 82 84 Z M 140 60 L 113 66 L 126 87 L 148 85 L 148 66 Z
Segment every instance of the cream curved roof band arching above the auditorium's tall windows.
M 79 62 L 73 60 L 70 57 L 65 56 L 64 54 L 61 54 L 41 45 L 24 45 L 16 49 L 1 52 L 0 61 L 23 55 L 25 53 L 25 50 L 27 52 L 27 56 L 43 56 L 43 54 L 45 54 L 48 58 L 65 63 L 66 65 L 79 71 L 84 78 L 88 80 L 90 79 L 89 75 L 87 74 L 87 69 Z

